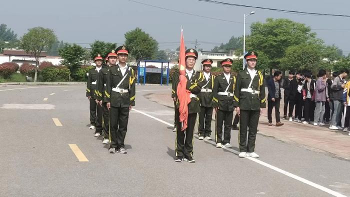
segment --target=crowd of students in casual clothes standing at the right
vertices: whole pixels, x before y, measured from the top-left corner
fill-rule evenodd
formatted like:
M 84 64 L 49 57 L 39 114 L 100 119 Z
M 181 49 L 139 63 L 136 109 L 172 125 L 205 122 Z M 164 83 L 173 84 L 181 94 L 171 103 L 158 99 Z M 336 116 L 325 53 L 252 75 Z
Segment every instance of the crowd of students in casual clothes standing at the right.
M 346 81 L 348 73 L 347 69 L 342 69 L 327 75 L 324 69 L 320 69 L 317 77 L 314 77 L 311 71 L 289 71 L 288 78 L 281 84 L 282 73 L 276 70 L 273 78 L 267 81 L 269 125 L 272 126 L 273 107 L 275 125 L 283 125 L 279 119 L 279 103 L 282 99 L 280 88 L 283 88 L 284 119 L 314 126 L 327 124 L 329 129 L 350 131 L 350 80 Z

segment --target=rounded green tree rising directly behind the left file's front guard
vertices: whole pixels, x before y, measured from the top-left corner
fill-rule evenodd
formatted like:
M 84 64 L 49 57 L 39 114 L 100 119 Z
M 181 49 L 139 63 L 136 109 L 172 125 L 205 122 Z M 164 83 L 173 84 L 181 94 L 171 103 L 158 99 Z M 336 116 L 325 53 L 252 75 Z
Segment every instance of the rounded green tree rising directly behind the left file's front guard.
M 153 39 L 148 33 L 136 27 L 133 30 L 126 32 L 125 45 L 128 47 L 129 53 L 138 62 L 141 59 L 151 59 L 155 57 L 158 50 L 158 42 Z

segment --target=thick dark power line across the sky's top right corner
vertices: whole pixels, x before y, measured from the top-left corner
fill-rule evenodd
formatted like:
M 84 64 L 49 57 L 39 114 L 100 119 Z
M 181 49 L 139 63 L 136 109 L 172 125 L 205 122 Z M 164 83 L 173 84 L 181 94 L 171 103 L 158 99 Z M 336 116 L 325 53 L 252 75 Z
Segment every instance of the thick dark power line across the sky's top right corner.
M 258 6 L 251 6 L 251 5 L 242 5 L 242 4 L 228 3 L 228 2 L 222 2 L 222 1 L 216 1 L 216 0 L 199 0 L 199 1 L 204 1 L 204 2 L 208 2 L 208 3 L 215 3 L 215 4 L 231 5 L 231 6 L 252 7 L 252 8 L 258 8 L 258 9 L 268 9 L 268 10 L 273 10 L 273 11 L 284 11 L 284 12 L 297 13 L 297 14 L 311 14 L 311 15 L 323 15 L 323 16 L 350 17 L 350 15 L 343 15 L 343 14 L 316 13 L 316 12 L 304 12 L 304 11 L 295 11 L 295 10 L 275 9 L 275 8 L 269 8 L 269 7 L 258 7 Z

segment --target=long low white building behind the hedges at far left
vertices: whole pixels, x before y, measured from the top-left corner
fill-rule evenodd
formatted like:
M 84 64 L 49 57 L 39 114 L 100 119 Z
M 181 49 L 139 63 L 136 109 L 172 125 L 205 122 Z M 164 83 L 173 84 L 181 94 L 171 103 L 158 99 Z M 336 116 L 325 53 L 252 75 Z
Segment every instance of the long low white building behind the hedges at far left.
M 49 61 L 53 65 L 58 65 L 62 60 L 59 56 L 47 56 L 46 51 L 42 51 L 39 55 L 39 63 Z M 3 54 L 0 54 L 0 64 L 4 62 L 14 62 L 21 66 L 23 63 L 35 65 L 35 57 L 32 53 L 27 53 L 21 49 L 4 49 Z

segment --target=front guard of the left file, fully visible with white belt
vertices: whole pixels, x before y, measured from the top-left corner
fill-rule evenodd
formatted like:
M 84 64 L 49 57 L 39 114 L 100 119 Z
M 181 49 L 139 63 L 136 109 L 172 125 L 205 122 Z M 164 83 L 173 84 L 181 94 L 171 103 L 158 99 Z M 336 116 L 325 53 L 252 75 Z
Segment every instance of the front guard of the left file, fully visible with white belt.
M 129 111 L 135 105 L 136 72 L 127 65 L 128 51 L 124 45 L 117 47 L 119 63 L 109 67 L 104 99 L 109 109 L 109 153 L 126 153 L 124 139 Z

